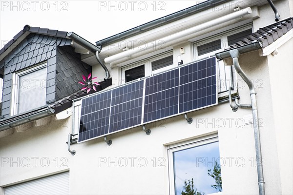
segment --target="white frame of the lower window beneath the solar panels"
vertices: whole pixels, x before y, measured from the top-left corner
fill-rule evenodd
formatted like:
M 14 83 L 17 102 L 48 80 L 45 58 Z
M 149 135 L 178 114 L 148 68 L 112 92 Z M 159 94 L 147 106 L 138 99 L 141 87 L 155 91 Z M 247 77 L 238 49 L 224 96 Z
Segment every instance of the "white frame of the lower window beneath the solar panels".
M 218 142 L 218 134 L 213 134 L 210 136 L 200 137 L 186 142 L 177 143 L 167 147 L 168 150 L 168 171 L 169 171 L 169 194 L 175 195 L 175 174 L 174 174 L 174 156 L 173 153 L 208 143 Z M 220 151 L 219 151 L 220 152 Z

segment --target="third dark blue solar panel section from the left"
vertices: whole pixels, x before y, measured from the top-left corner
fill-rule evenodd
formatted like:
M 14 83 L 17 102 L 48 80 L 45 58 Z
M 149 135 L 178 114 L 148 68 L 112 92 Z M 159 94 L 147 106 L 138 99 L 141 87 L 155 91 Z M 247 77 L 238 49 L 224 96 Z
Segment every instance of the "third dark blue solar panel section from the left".
M 146 78 L 144 122 L 178 114 L 179 69 Z

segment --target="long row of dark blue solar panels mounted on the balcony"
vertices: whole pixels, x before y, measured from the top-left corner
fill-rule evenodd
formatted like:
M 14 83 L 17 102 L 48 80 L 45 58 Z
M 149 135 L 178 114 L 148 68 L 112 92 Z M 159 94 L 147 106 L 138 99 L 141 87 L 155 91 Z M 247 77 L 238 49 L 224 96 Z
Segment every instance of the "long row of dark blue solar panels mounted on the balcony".
M 216 59 L 82 99 L 78 142 L 217 104 Z

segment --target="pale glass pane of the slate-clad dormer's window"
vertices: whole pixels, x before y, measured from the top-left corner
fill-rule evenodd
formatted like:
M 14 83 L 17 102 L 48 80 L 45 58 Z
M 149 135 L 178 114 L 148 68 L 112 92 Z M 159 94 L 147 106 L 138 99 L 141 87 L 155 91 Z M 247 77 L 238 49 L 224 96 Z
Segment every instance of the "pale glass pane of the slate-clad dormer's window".
M 19 77 L 18 114 L 45 105 L 46 68 Z

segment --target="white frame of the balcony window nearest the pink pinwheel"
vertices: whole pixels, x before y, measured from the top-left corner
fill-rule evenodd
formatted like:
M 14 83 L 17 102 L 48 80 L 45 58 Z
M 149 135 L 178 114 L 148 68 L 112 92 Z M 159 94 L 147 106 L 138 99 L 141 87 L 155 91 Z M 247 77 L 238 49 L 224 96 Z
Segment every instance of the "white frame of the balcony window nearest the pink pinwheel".
M 152 71 L 151 62 L 166 58 L 168 56 L 173 56 L 173 62 L 174 62 L 173 50 L 170 50 L 170 51 L 167 51 L 163 54 L 159 54 L 159 55 L 147 58 L 147 59 L 143 59 L 143 60 L 140 60 L 139 62 L 131 63 L 129 65 L 122 67 L 121 68 L 122 84 L 126 83 L 125 71 L 130 70 L 135 67 L 138 67 L 138 66 L 141 66 L 141 65 L 145 65 L 145 77 L 151 76 L 153 74 L 158 74 L 160 72 L 164 72 L 164 71 L 167 71 L 167 70 L 170 70 L 170 69 L 176 67 L 176 64 L 173 63 L 173 65 L 169 65 L 169 66 L 160 68 L 158 70 Z

